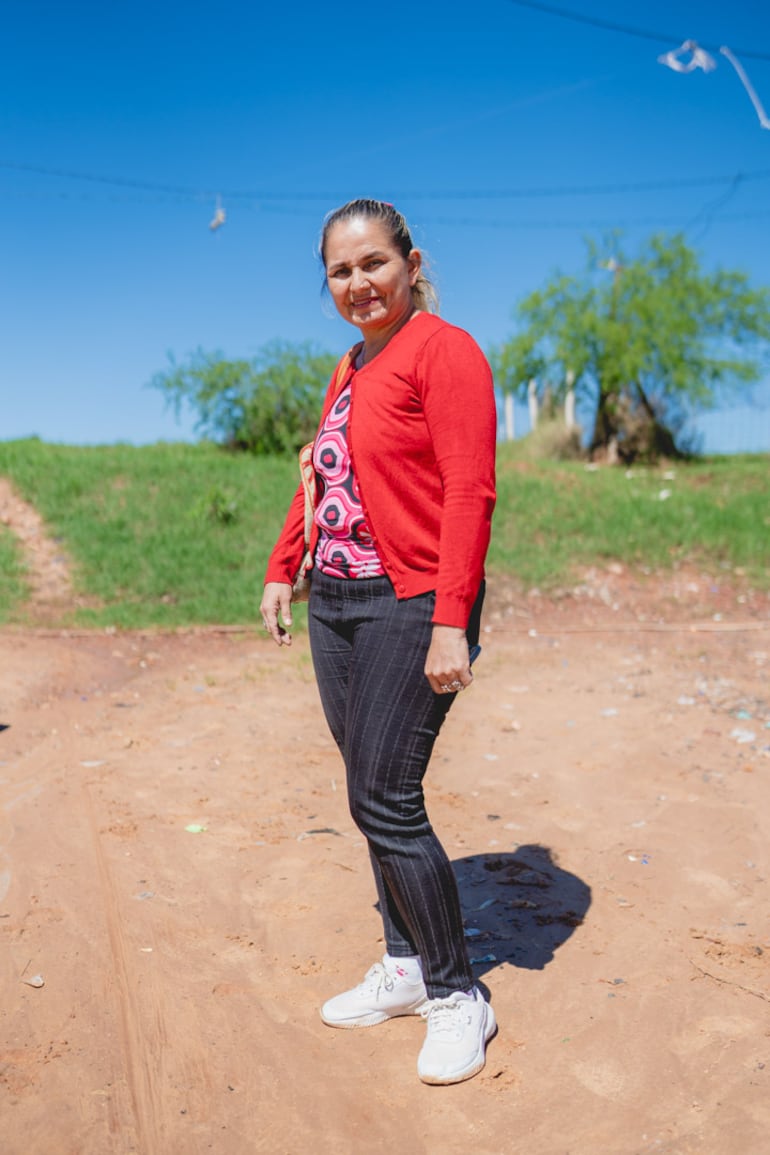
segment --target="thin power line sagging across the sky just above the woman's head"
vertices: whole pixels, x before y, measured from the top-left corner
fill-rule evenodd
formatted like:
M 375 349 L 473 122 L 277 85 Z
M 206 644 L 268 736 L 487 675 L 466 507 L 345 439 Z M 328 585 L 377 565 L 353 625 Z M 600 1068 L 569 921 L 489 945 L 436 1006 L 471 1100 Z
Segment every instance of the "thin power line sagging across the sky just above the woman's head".
M 237 188 L 190 188 L 184 185 L 165 185 L 158 181 L 136 180 L 127 177 L 107 177 L 104 173 L 81 172 L 72 169 L 53 169 L 45 165 L 24 164 L 16 161 L 0 161 L 0 169 L 15 172 L 29 172 L 36 176 L 59 177 L 66 180 L 83 180 L 91 184 L 107 185 L 115 188 L 132 188 L 137 192 L 165 193 L 172 196 L 195 201 L 208 201 L 217 195 L 223 200 L 248 201 L 324 201 L 330 202 L 344 196 L 338 189 L 320 192 L 286 192 L 276 189 L 237 189 Z M 713 177 L 683 177 L 658 180 L 623 181 L 604 185 L 544 185 L 523 188 L 477 188 L 477 189 L 387 189 L 388 195 L 396 200 L 524 200 L 544 196 L 605 196 L 622 193 L 663 192 L 676 188 L 705 188 L 713 185 L 745 184 L 753 180 L 768 180 L 770 169 L 757 169 L 753 172 L 732 172 Z

